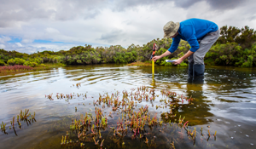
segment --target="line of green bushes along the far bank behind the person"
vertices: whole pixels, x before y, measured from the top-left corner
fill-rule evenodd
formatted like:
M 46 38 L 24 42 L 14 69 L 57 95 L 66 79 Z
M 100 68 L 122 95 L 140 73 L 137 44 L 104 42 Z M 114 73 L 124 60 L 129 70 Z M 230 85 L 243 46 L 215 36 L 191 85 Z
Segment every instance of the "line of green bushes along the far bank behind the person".
M 218 41 L 207 52 L 206 65 L 218 66 L 256 66 L 256 32 L 248 26 L 241 29 L 235 26 L 220 28 Z M 131 44 L 127 49 L 120 45 L 96 47 L 85 44 L 67 51 L 43 51 L 25 54 L 17 51 L 0 49 L 0 66 L 24 65 L 38 66 L 45 63 L 62 63 L 66 65 L 88 65 L 99 63 L 145 62 L 150 59 L 154 43 L 157 44 L 156 55 L 163 54 L 172 45 L 171 38 L 154 39 L 143 46 Z M 181 41 L 178 49 L 171 55 L 156 61 L 157 65 L 172 66 L 166 60 L 178 59 L 190 49 L 189 43 Z M 184 60 L 181 66 L 187 66 Z

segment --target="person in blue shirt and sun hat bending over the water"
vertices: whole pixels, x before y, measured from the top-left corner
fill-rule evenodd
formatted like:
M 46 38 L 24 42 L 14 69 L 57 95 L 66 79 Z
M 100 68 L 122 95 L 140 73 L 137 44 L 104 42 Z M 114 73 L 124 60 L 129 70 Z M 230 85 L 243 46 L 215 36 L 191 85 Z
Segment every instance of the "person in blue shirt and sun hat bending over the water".
M 171 47 L 160 56 L 154 56 L 153 60 L 159 60 L 172 54 L 180 42 L 180 39 L 188 41 L 191 49 L 175 62 L 180 64 L 189 58 L 189 77 L 204 77 L 204 57 L 219 37 L 218 26 L 209 20 L 189 19 L 174 23 L 169 21 L 164 26 L 164 37 L 172 37 Z

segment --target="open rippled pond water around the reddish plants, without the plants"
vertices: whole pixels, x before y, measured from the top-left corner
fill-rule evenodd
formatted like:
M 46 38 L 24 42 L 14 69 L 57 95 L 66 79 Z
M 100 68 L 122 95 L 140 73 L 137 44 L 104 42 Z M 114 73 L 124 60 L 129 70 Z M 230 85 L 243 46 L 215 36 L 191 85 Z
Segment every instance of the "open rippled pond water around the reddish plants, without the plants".
M 73 86 L 76 83 L 81 83 L 81 87 Z M 6 134 L 0 133 L 0 148 L 76 148 L 61 146 L 61 137 L 66 135 L 67 131 L 75 134 L 69 130 L 74 118 L 78 118 L 81 113 L 95 111 L 91 104 L 92 100 L 97 100 L 99 94 L 117 91 L 121 93 L 123 90 L 130 92 L 131 89 L 140 86 L 153 87 L 157 95 L 160 95 L 161 89 L 187 97 L 192 95 L 195 98 L 194 105 L 179 107 L 177 114 L 185 117 L 185 121 L 189 121 L 189 129 L 196 129 L 198 133 L 194 142 L 183 129 L 174 130 L 175 125 L 169 127 L 162 114 L 168 109 L 156 109 L 156 105 L 161 106 L 160 98 L 157 98 L 154 104 L 146 101 L 138 104 L 138 107 L 148 105 L 149 112 L 156 112 L 158 119 L 164 119 L 166 125 L 148 130 L 156 136 L 155 145 L 146 146 L 144 140 L 131 140 L 130 137 L 125 137 L 120 140 L 125 142 L 125 148 L 170 148 L 172 141 L 175 142 L 176 148 L 256 146 L 255 68 L 207 66 L 204 83 L 188 83 L 187 67 L 156 66 L 153 79 L 150 66 L 93 65 L 67 66 L 48 71 L 0 76 L 0 122 L 7 123 Z M 51 93 L 54 100 L 45 98 L 45 95 Z M 83 100 L 76 97 L 67 103 L 65 100 L 57 100 L 56 93 L 86 93 L 87 98 Z M 75 107 L 78 109 L 77 112 Z M 12 118 L 16 117 L 20 110 L 25 109 L 32 113 L 36 112 L 36 122 L 21 122 L 21 127 L 16 125 L 15 131 L 9 129 Z M 104 112 L 111 110 L 106 108 Z M 118 112 L 113 114 L 116 118 L 120 116 Z M 109 125 L 111 124 L 113 123 L 109 118 Z M 200 135 L 201 127 L 204 136 Z M 217 131 L 216 140 L 213 136 L 208 139 L 207 130 L 212 134 Z M 102 131 L 102 137 L 106 138 L 103 148 L 122 147 L 113 145 L 118 143 L 114 143 L 112 134 L 110 130 Z M 148 135 L 148 138 L 150 137 L 153 135 Z M 73 140 L 76 138 L 73 137 Z M 93 142 L 84 144 L 84 148 L 98 148 Z

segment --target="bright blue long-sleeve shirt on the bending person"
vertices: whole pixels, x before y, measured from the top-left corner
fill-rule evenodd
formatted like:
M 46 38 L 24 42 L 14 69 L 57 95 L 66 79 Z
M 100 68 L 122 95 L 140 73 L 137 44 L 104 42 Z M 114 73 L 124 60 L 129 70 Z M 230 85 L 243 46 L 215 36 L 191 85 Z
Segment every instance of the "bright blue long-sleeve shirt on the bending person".
M 218 30 L 218 26 L 209 20 L 201 20 L 201 19 L 189 19 L 183 20 L 180 22 L 179 29 L 177 30 L 177 37 L 172 38 L 172 45 L 168 49 L 171 53 L 176 51 L 178 43 L 180 39 L 188 41 L 192 52 L 195 52 L 199 49 L 199 43 L 197 40 L 201 40 L 207 33 L 216 32 Z

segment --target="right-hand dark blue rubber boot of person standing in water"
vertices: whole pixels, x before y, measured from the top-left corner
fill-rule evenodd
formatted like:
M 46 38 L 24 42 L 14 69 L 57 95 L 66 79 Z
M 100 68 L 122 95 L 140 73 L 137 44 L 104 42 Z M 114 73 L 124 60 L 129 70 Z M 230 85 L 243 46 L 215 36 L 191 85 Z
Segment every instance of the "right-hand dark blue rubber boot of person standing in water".
M 205 65 L 193 66 L 193 83 L 204 83 Z

